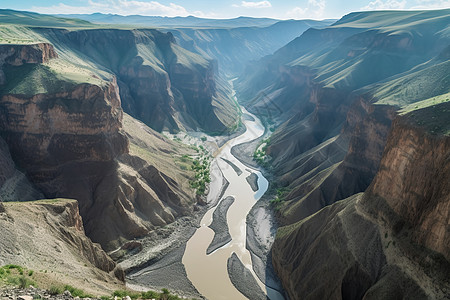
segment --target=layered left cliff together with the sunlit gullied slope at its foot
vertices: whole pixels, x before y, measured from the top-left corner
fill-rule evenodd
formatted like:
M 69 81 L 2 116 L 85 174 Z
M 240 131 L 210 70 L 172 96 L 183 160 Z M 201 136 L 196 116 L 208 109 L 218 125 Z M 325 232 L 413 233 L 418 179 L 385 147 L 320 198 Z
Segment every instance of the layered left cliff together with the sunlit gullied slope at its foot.
M 20 51 L 34 53 L 36 47 Z M 54 51 L 51 45 L 45 49 Z M 87 236 L 107 250 L 193 213 L 191 171 L 174 161 L 193 150 L 158 137 L 129 116 L 124 129 L 115 77 L 100 80 L 95 73 L 85 76 L 79 71 L 83 66 L 21 57 L 32 59 L 4 64 L 6 82 L 0 86 L 3 201 L 76 199 Z M 75 76 L 55 69 L 57 63 Z M 45 72 L 22 74 L 18 68 L 24 67 Z M 42 85 L 46 92 L 18 85 Z M 89 256 L 95 249 L 85 250 Z

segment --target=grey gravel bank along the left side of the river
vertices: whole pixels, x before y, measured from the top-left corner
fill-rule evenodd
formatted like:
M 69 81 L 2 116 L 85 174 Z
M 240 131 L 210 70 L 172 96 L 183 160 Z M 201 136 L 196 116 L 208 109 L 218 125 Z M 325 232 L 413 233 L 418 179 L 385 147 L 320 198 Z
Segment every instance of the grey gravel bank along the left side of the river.
M 170 137 L 180 139 L 178 136 Z M 184 136 L 182 142 L 201 145 L 210 153 L 218 148 L 211 142 L 210 137 L 206 141 L 201 140 L 201 137 Z M 167 288 L 183 297 L 205 299 L 187 278 L 182 257 L 186 243 L 200 227 L 201 219 L 209 209 L 217 206 L 229 185 L 215 161 L 210 167 L 210 177 L 207 195 L 196 205 L 193 216 L 179 218 L 174 223 L 156 229 L 150 235 L 135 241 L 140 244 L 141 251 L 127 255 L 119 263 L 126 272 L 128 288 L 137 291 Z M 227 229 L 222 231 L 226 232 Z

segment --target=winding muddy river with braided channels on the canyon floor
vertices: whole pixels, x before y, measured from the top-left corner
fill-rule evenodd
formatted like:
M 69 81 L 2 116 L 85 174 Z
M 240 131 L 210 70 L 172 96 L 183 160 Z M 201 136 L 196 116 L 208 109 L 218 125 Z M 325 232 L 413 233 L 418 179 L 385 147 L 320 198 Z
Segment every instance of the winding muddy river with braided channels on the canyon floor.
M 214 154 L 214 159 L 211 164 L 211 186 L 208 194 L 208 203 L 217 199 L 221 190 L 222 178 L 217 176 L 222 174 L 230 183 L 227 187 L 222 199 L 227 196 L 235 198 L 234 203 L 228 210 L 227 223 L 232 240 L 225 246 L 217 249 L 211 254 L 206 254 L 206 249 L 211 243 L 214 232 L 208 227 L 212 222 L 214 210 L 218 207 L 211 208 L 206 212 L 200 223 L 200 228 L 187 242 L 186 250 L 183 256 L 183 264 L 189 280 L 194 284 L 197 290 L 206 298 L 210 300 L 216 299 L 247 299 L 242 295 L 231 283 L 227 271 L 227 261 L 232 253 L 236 253 L 241 262 L 249 269 L 261 289 L 269 295 L 270 298 L 277 299 L 275 291 L 265 287 L 264 283 L 258 280 L 258 277 L 253 271 L 252 262 L 249 251 L 245 248 L 246 243 L 246 217 L 252 206 L 258 199 L 266 192 L 268 181 L 262 174 L 254 169 L 243 165 L 234 155 L 231 154 L 231 148 L 244 142 L 252 141 L 264 134 L 264 126 L 260 120 L 254 115 L 243 109 L 245 114 L 251 115 L 254 121 L 244 120 L 246 131 L 228 141 Z M 225 158 L 235 164 L 242 170 L 240 176 L 233 170 L 233 168 L 225 162 Z M 258 191 L 254 192 L 246 181 L 246 177 L 251 173 L 258 175 Z

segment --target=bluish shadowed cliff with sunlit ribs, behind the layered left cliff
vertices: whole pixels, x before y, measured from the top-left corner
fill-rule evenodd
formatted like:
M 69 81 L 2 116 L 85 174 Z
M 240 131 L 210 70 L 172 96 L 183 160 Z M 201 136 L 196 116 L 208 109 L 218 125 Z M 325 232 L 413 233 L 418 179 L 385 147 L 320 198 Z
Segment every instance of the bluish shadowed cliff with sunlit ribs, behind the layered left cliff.
M 237 110 L 216 88 L 215 66 L 157 30 L 42 30 L 118 79 L 125 112 L 157 131 L 226 132 Z M 218 107 L 220 106 L 220 108 Z

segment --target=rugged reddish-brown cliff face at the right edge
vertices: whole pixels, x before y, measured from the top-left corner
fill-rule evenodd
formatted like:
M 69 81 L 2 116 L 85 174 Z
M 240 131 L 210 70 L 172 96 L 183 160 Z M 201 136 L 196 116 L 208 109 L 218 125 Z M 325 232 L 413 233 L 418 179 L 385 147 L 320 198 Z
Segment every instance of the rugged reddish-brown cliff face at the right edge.
M 365 202 L 370 205 L 371 198 L 382 198 L 389 213 L 375 208 L 372 213 L 383 218 L 394 234 L 408 232 L 412 243 L 449 261 L 450 138 L 413 127 L 409 118 L 394 122 Z

